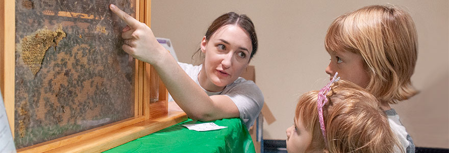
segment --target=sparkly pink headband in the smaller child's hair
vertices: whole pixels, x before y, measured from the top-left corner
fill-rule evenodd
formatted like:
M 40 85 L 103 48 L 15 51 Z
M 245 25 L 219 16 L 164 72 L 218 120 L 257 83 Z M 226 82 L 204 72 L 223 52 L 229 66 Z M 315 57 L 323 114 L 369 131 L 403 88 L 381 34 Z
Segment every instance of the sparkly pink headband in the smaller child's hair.
M 338 72 L 335 72 L 334 78 L 332 78 L 332 80 L 328 83 L 328 85 L 326 85 L 321 90 L 319 90 L 318 100 L 316 101 L 316 105 L 317 105 L 317 108 L 318 108 L 319 126 L 321 128 L 321 133 L 323 135 L 323 138 L 325 139 L 326 145 L 327 145 L 327 141 L 326 141 L 326 126 L 325 126 L 325 121 L 324 121 L 323 115 L 322 115 L 322 107 L 325 106 L 325 104 L 328 102 L 328 98 L 326 98 L 326 95 L 328 94 L 329 91 L 331 91 L 332 83 L 337 82 L 338 80 L 340 80 L 340 77 L 336 78 L 337 74 L 338 74 Z

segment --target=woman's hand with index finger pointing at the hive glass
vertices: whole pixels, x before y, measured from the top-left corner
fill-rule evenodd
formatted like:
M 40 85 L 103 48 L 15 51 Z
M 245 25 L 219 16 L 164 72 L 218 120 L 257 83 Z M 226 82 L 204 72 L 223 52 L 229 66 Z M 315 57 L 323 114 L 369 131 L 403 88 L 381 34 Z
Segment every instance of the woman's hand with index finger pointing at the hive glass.
M 122 45 L 124 52 L 149 64 L 156 65 L 159 63 L 159 57 L 167 51 L 156 40 L 153 31 L 145 23 L 139 22 L 115 5 L 111 4 L 109 8 L 128 24 L 127 27 L 123 28 L 123 33 L 121 34 L 121 37 L 124 39 Z

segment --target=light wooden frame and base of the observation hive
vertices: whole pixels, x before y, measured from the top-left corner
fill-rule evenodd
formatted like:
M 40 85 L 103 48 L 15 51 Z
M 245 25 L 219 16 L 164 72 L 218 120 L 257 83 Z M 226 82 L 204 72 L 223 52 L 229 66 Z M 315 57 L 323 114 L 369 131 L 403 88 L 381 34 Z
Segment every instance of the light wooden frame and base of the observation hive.
M 14 135 L 15 1 L 0 2 L 0 87 Z M 151 24 L 151 1 L 136 0 L 136 19 Z M 77 134 L 20 148 L 18 152 L 99 152 L 154 133 L 187 119 L 185 113 L 167 112 L 167 95 L 160 81 L 159 101 L 150 103 L 151 65 L 136 60 L 135 116 Z

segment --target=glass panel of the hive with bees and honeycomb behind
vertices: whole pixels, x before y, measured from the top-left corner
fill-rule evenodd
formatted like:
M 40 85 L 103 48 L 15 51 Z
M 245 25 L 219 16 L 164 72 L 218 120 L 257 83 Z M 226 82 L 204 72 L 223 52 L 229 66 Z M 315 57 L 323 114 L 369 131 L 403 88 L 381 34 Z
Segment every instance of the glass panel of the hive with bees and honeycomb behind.
M 17 148 L 134 116 L 135 61 L 123 52 L 130 0 L 16 0 Z

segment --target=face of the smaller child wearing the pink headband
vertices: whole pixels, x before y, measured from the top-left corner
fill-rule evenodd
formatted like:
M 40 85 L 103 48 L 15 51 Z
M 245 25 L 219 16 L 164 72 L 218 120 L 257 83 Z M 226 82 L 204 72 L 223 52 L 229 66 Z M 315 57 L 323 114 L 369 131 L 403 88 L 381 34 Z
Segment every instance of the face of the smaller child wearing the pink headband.
M 285 133 L 287 134 L 287 151 L 290 153 L 305 152 L 312 142 L 312 133 L 306 130 L 301 117 L 295 118 L 294 125 L 288 127 Z

